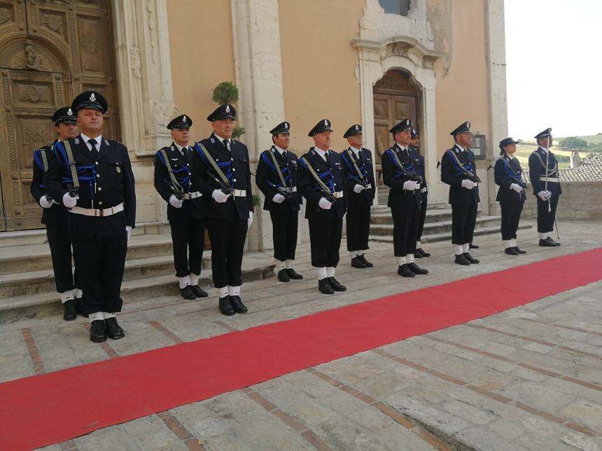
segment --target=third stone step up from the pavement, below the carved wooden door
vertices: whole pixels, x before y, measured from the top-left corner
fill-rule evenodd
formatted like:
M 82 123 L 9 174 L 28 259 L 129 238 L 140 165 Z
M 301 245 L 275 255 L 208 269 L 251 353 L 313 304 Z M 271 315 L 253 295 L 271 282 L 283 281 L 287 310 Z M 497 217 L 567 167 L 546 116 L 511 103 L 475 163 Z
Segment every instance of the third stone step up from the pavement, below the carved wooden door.
M 18 245 L 1 249 L 0 275 L 52 269 L 50 248 L 45 241 L 41 244 Z M 127 260 L 166 255 L 172 255 L 172 237 L 170 234 L 132 236 L 130 242 L 127 243 Z

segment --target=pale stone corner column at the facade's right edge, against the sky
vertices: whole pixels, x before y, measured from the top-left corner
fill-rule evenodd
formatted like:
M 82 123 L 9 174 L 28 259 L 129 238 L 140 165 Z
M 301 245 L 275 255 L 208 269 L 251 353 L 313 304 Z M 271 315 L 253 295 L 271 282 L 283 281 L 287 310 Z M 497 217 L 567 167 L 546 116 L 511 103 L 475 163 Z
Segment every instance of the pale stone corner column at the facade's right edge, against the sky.
M 487 166 L 495 164 L 498 143 L 508 135 L 508 111 L 506 94 L 506 42 L 504 34 L 504 1 L 485 1 L 486 52 L 489 73 L 489 142 Z M 493 176 L 488 177 L 489 214 L 498 213 L 497 186 Z

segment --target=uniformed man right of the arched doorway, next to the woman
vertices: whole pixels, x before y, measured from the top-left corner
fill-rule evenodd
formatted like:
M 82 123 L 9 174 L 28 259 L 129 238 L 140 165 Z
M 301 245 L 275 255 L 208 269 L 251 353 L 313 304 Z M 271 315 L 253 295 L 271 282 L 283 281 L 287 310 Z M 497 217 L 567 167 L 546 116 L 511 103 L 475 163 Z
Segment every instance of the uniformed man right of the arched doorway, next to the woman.
M 456 143 L 441 158 L 441 181 L 449 185 L 451 243 L 454 245 L 455 262 L 468 266 L 479 263 L 469 250 L 477 223 L 477 206 L 481 201 L 475 154 L 470 150 L 470 122 L 463 122 L 451 132 L 451 136 Z

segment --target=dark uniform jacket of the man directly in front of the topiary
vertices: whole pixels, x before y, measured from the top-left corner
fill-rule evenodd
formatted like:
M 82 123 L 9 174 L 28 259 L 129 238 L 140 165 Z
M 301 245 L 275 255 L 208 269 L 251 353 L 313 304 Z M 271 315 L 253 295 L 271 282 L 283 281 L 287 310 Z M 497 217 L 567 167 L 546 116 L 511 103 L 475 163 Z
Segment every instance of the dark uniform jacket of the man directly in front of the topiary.
M 193 191 L 200 191 L 202 196 L 200 217 L 214 217 L 224 220 L 248 219 L 248 212 L 253 211 L 253 193 L 251 192 L 251 169 L 248 166 L 248 149 L 239 141 L 232 140 L 230 149 L 223 145 L 218 138 L 211 134 L 200 142 L 209 152 L 214 162 L 220 166 L 228 178 L 230 186 L 244 196 L 235 196 L 224 203 L 218 203 L 211 197 L 214 189 L 221 189 L 217 180 L 221 181 L 213 165 L 205 158 L 200 146 L 193 146 L 193 156 L 190 160 L 190 172 L 193 173 Z M 234 207 L 234 208 L 233 208 Z M 197 212 L 193 212 L 197 214 Z

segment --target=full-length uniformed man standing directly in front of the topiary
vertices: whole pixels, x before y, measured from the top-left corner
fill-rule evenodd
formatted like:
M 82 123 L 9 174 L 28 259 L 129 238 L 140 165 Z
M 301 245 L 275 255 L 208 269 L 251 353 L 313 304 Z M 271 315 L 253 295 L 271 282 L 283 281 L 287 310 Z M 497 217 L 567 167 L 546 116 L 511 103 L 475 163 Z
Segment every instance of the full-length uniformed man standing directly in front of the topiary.
M 200 217 L 211 240 L 211 271 L 223 315 L 246 313 L 240 298 L 242 254 L 253 222 L 251 169 L 246 145 L 232 139 L 236 110 L 221 105 L 207 120 L 214 132 L 195 143 L 193 191 L 202 193 Z

